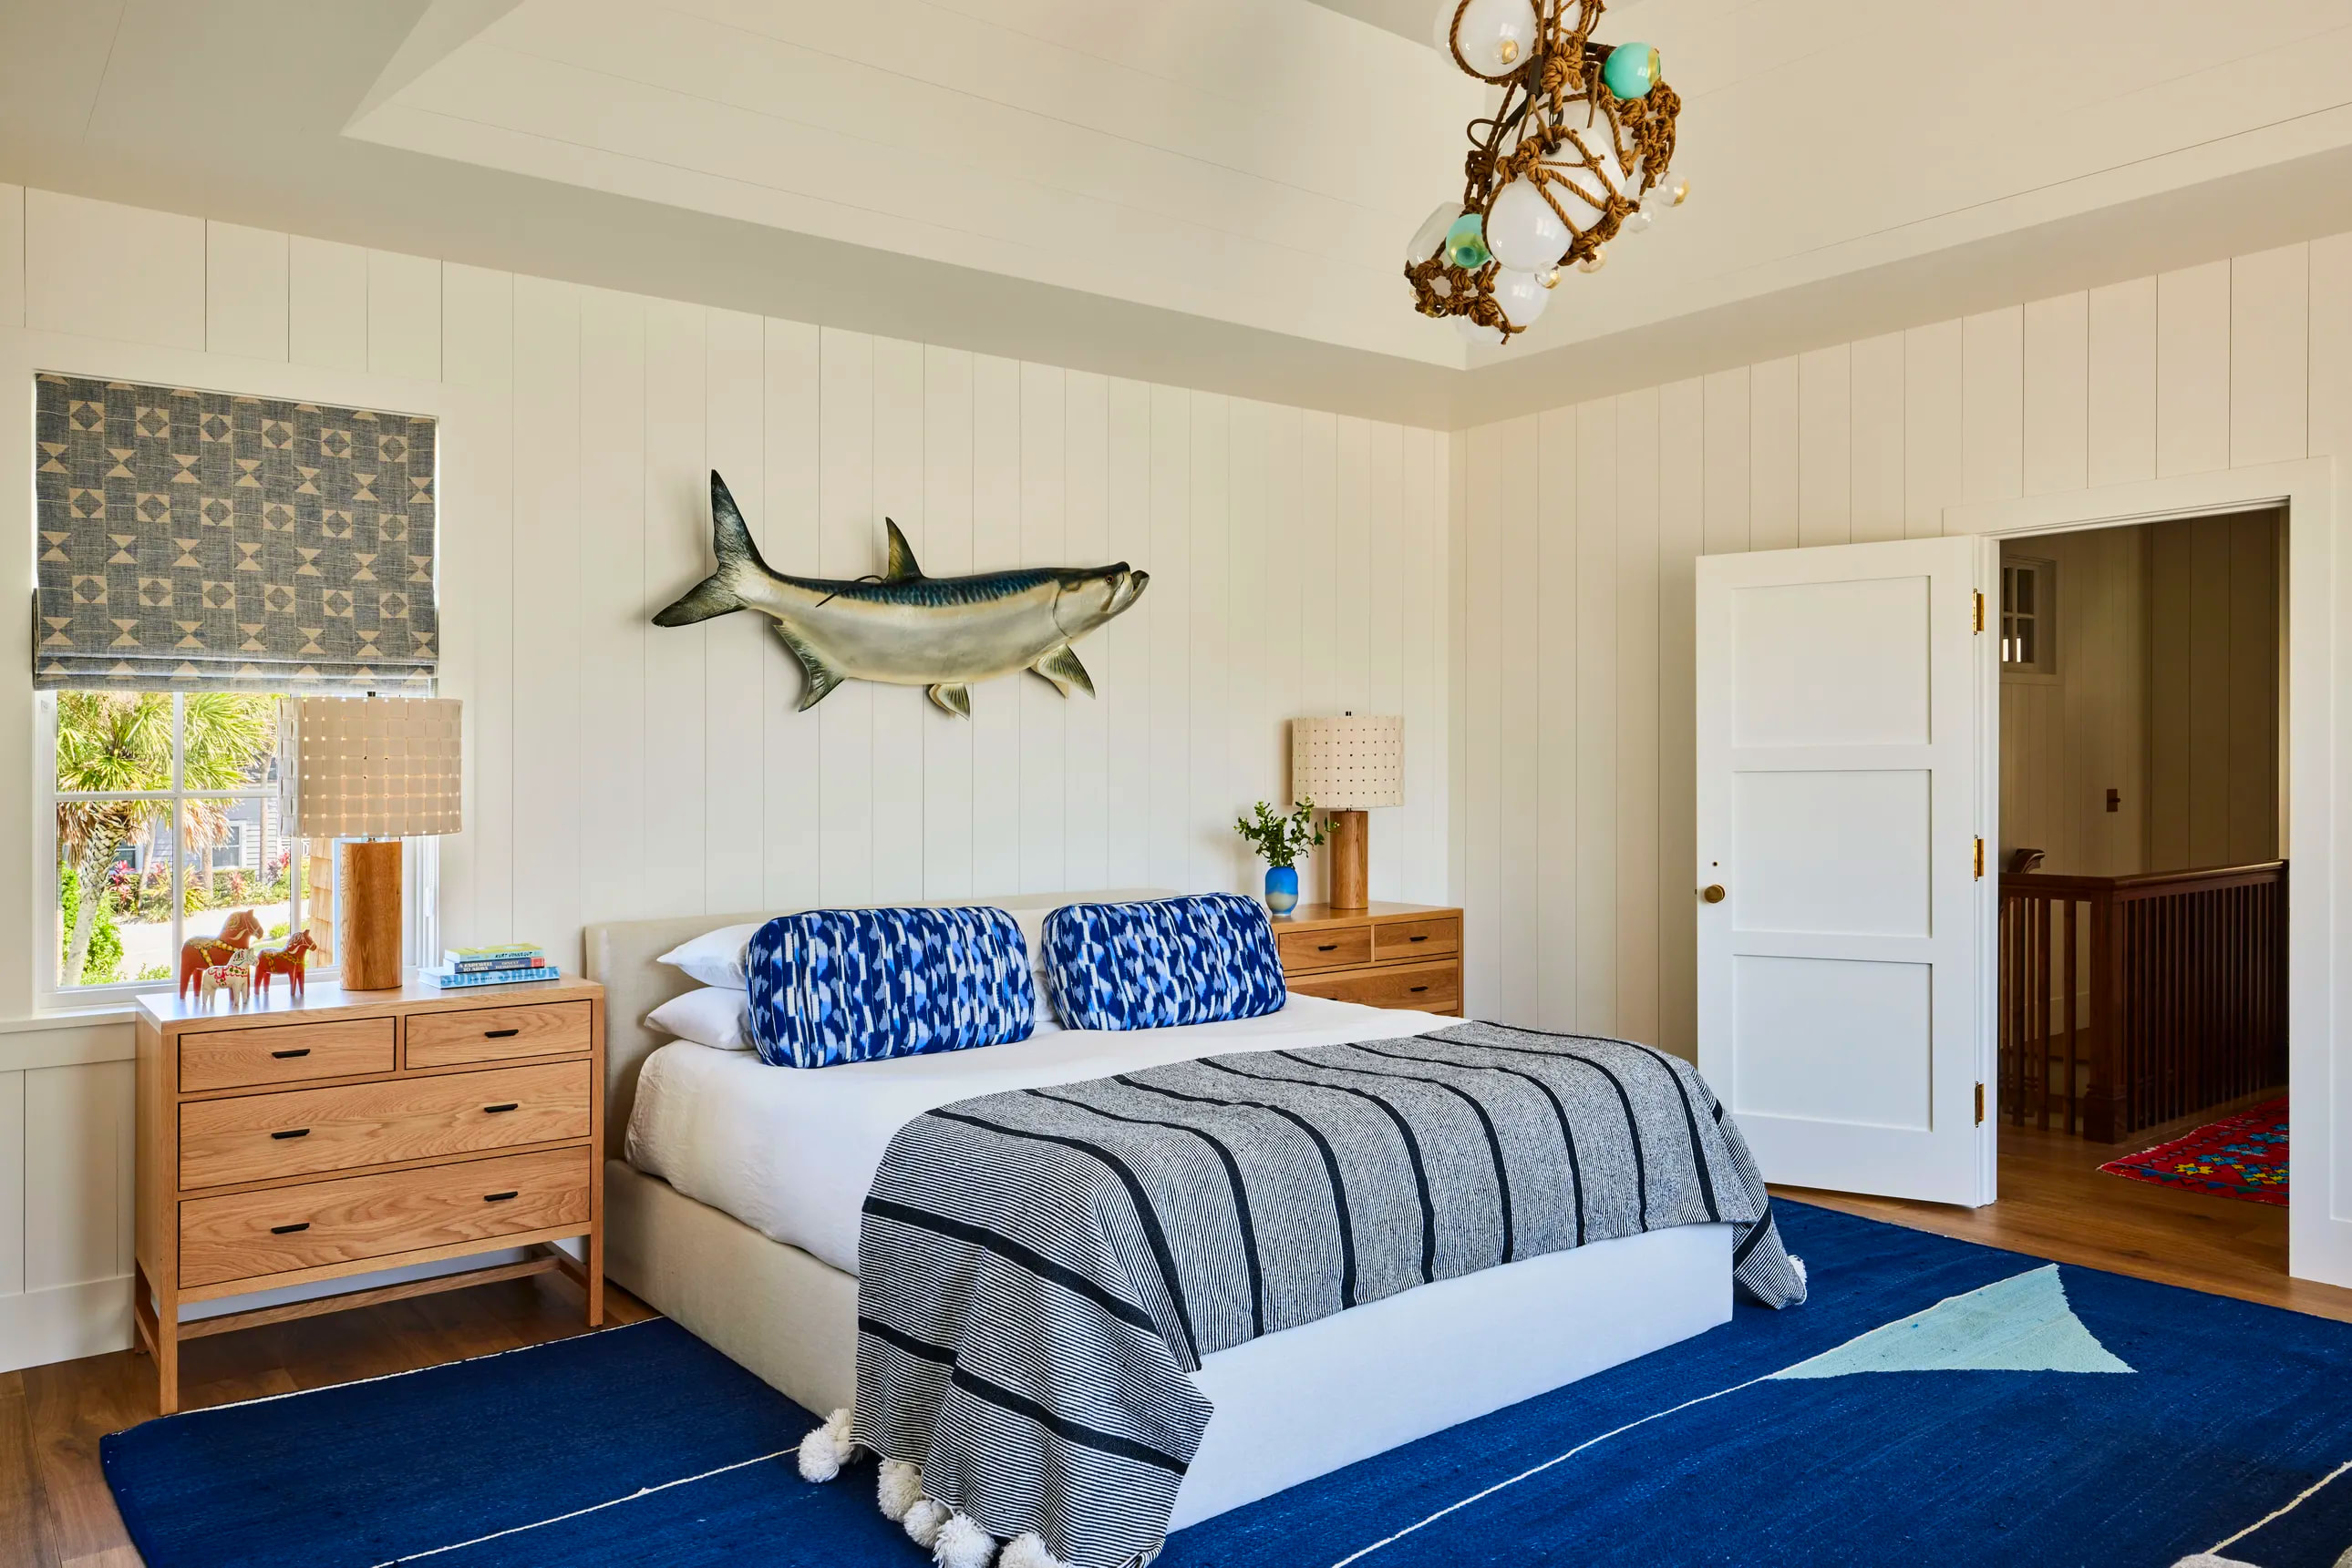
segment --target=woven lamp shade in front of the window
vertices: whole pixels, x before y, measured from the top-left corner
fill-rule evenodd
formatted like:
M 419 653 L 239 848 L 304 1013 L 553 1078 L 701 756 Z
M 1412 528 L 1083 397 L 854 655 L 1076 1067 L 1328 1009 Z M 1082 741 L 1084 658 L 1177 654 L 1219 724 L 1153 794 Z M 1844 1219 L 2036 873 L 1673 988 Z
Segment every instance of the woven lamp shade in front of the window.
M 416 839 L 463 827 L 463 703 L 306 696 L 289 705 L 292 832 L 308 839 Z

